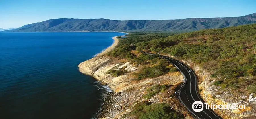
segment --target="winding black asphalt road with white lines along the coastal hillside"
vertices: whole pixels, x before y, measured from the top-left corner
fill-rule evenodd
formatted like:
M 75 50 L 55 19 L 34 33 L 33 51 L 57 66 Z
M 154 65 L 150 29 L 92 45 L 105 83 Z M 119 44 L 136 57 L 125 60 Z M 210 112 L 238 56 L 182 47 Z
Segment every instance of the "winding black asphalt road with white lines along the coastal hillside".
M 143 52 L 146 53 L 146 52 Z M 149 55 L 157 55 L 152 53 L 146 53 Z M 193 72 L 193 70 L 187 66 L 186 64 L 180 62 L 179 60 L 158 55 L 169 62 L 171 62 L 184 76 L 185 82 L 181 85 L 179 91 L 176 93 L 178 95 L 179 101 L 186 107 L 186 109 L 194 116 L 194 118 L 198 119 L 222 119 L 220 116 L 215 114 L 211 109 L 206 109 L 204 104 L 204 109 L 201 112 L 195 112 L 192 109 L 192 104 L 195 101 L 201 101 L 204 103 L 201 98 L 198 87 L 197 87 L 197 76 Z M 189 72 L 192 71 L 192 72 Z

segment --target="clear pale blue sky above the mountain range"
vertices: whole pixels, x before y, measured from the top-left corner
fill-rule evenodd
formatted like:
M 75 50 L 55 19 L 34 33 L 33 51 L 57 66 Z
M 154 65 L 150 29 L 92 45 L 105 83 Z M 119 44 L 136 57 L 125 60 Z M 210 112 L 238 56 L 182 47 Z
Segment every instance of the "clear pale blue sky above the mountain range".
M 54 18 L 160 20 L 244 16 L 255 0 L 0 0 L 0 28 Z

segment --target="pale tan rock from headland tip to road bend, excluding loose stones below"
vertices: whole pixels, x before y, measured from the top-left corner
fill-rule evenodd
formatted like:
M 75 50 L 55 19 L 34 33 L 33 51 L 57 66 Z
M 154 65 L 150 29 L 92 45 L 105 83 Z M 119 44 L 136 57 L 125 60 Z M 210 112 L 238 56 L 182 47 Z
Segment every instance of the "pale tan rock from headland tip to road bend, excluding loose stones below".
M 167 74 L 157 78 L 148 78 L 146 80 L 131 83 L 135 78 L 133 78 L 130 73 L 137 70 L 137 67 L 133 66 L 130 62 L 113 61 L 113 59 L 106 56 L 94 57 L 80 63 L 78 67 L 80 72 L 93 76 L 98 81 L 108 84 L 114 92 L 121 92 L 129 88 L 141 87 L 145 84 L 158 83 L 174 85 L 180 83 L 183 79 L 180 74 L 177 74 L 176 76 L 172 75 L 171 77 L 170 74 Z M 106 73 L 108 70 L 113 68 L 121 69 L 123 67 L 126 67 L 125 70 L 130 73 L 118 77 L 113 77 Z M 168 78 L 169 80 L 167 80 Z

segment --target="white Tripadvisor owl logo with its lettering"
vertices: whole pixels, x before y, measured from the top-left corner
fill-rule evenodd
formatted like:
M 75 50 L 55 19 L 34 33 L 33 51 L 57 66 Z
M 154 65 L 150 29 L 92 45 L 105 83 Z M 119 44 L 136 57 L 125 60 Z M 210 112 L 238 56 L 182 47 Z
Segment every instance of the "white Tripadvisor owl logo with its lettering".
M 216 104 L 209 104 L 209 103 L 204 103 L 205 104 L 205 109 L 245 109 L 246 105 L 238 105 L 238 104 L 225 104 L 225 105 L 216 105 Z M 195 101 L 192 104 L 192 109 L 195 112 L 201 112 L 204 109 L 204 105 L 201 101 Z

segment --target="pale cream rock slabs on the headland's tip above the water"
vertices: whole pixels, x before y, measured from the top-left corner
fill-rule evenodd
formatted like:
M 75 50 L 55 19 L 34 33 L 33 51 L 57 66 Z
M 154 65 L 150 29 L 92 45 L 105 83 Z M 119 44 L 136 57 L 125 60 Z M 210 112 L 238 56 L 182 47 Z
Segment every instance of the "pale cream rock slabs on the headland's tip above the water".
M 106 56 L 97 56 L 85 62 L 82 62 L 78 65 L 79 71 L 91 75 L 96 78 L 98 81 L 108 84 L 112 90 L 115 92 L 121 92 L 128 88 L 136 87 L 137 85 L 133 85 L 128 82 L 128 75 L 121 75 L 118 77 L 113 77 L 110 74 L 106 74 L 108 70 L 113 68 L 125 68 L 127 71 L 135 71 L 137 68 L 133 67 L 129 62 L 126 63 L 113 63 L 112 60 Z

